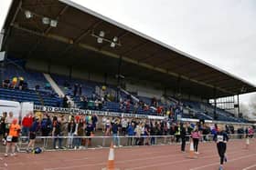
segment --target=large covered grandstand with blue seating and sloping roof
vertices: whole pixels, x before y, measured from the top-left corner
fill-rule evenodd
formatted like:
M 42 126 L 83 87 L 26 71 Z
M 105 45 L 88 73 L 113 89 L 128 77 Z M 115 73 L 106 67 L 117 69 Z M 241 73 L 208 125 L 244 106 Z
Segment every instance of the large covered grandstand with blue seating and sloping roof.
M 22 76 L 27 89 L 1 87 L 0 99 L 63 106 L 68 95 L 72 107 L 99 110 L 95 100 L 103 97 L 101 111 L 165 115 L 172 108 L 184 118 L 247 123 L 209 100 L 255 85 L 70 1 L 13 0 L 2 33 L 2 80 Z M 93 105 L 85 107 L 83 95 Z

